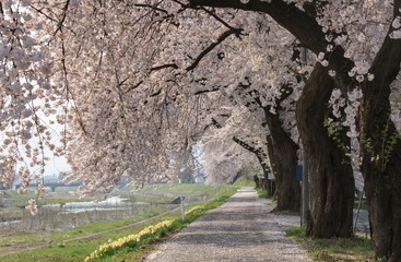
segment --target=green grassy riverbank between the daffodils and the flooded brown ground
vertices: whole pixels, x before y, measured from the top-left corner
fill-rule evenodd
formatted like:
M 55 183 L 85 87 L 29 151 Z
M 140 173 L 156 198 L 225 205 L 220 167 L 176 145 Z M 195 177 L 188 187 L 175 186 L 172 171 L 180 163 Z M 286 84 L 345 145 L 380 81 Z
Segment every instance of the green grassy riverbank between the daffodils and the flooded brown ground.
M 225 187 L 220 190 L 225 194 L 235 189 L 235 187 Z M 186 195 L 191 198 L 208 194 L 209 199 L 215 199 L 217 193 L 216 188 L 204 184 L 181 184 L 174 187 L 174 190 L 172 191 L 168 187 L 162 186 L 160 189 L 153 187 L 152 190 L 157 195 L 157 199 L 161 199 L 160 195 L 163 193 L 168 192 L 174 192 L 172 194 L 184 192 Z M 223 195 L 223 193 L 220 193 L 220 195 Z M 205 203 L 207 202 L 203 201 L 194 202 L 191 203 L 188 209 L 193 204 Z M 175 206 L 177 207 L 178 205 Z M 158 216 L 155 217 L 156 215 Z M 118 239 L 127 236 L 127 234 L 140 231 L 144 227 L 160 221 L 175 219 L 177 217 L 180 217 L 179 210 L 173 210 L 166 213 L 166 210 L 152 209 L 141 214 L 137 214 L 133 217 L 110 222 L 89 223 L 71 230 L 2 236 L 0 238 L 0 260 L 3 262 L 83 261 L 86 255 L 96 250 L 96 248 L 104 242 L 108 241 L 108 239 Z

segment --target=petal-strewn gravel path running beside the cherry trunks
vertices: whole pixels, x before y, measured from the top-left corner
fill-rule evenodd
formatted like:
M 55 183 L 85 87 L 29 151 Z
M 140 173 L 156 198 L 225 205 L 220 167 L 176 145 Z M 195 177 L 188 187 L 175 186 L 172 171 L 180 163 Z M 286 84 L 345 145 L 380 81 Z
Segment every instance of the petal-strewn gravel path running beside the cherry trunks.
M 241 188 L 150 254 L 148 262 L 291 261 L 311 262 L 284 236 L 298 216 L 269 213 L 271 205 L 252 188 Z

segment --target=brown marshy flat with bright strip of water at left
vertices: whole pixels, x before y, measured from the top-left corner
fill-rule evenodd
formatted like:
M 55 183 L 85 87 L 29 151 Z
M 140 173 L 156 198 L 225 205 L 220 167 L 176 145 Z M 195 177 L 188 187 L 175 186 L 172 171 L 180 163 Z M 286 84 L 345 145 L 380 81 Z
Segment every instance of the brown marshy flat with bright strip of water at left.
M 27 199 L 4 199 L 0 209 L 0 235 L 73 229 L 92 222 L 121 219 L 152 210 L 170 210 L 177 206 L 168 202 L 154 203 L 152 198 L 148 198 L 146 202 L 138 201 L 140 198 L 125 191 L 121 194 L 123 195 L 110 195 L 99 201 L 82 201 L 70 189 L 60 190 L 46 195 L 43 203 L 38 204 L 35 216 L 24 207 Z

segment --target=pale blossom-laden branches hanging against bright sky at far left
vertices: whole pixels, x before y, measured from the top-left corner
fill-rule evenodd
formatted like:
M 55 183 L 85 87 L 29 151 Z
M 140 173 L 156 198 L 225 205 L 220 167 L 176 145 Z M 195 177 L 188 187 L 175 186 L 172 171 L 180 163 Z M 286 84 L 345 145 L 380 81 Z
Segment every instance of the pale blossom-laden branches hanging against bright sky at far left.
M 28 1 L 0 3 L 0 181 L 9 188 L 17 175 L 20 193 L 26 192 L 25 187 L 33 179 L 42 180 L 47 160 L 44 152 L 61 152 L 54 143 L 55 120 L 48 121 L 45 116 L 55 115 L 62 88 L 50 82 L 52 37 L 39 33 L 56 34 L 56 21 L 47 23 L 28 5 Z M 33 168 L 37 169 L 34 177 L 30 171 Z M 43 191 L 40 182 L 38 193 Z

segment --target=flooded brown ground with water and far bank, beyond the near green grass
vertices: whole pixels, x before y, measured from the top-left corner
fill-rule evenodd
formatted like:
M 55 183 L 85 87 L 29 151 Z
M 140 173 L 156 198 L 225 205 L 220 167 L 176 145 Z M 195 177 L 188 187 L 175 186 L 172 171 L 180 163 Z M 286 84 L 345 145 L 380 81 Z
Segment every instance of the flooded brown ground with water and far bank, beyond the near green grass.
M 87 223 L 168 211 L 179 205 L 179 202 L 174 201 L 179 195 L 186 195 L 186 203 L 208 201 L 210 195 L 215 193 L 215 189 L 208 188 L 208 191 L 204 189 L 200 190 L 199 186 L 181 184 L 177 190 L 176 187 L 161 184 L 132 191 L 127 187 L 115 190 L 107 198 L 96 194 L 80 199 L 74 188 L 57 188 L 54 192 L 47 192 L 44 200 L 38 201 L 38 213 L 35 216 L 25 209 L 27 200 L 35 196 L 34 191 L 27 195 L 8 191 L 0 207 L 0 236 L 60 231 L 74 229 Z

